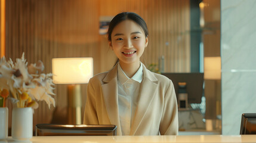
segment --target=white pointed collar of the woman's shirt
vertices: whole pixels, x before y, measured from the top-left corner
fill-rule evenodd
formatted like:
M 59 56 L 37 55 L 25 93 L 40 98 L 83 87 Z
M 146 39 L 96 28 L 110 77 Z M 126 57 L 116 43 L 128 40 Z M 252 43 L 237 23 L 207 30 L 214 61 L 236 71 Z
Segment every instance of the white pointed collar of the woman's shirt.
M 125 72 L 122 70 L 120 64 L 118 63 L 118 80 L 119 83 L 121 83 L 122 85 L 124 85 L 125 82 L 127 82 L 127 80 L 129 80 L 130 78 L 125 74 Z M 134 76 L 131 77 L 131 79 L 141 83 L 143 80 L 143 67 L 140 63 L 140 68 L 138 68 L 137 72 L 134 74 Z

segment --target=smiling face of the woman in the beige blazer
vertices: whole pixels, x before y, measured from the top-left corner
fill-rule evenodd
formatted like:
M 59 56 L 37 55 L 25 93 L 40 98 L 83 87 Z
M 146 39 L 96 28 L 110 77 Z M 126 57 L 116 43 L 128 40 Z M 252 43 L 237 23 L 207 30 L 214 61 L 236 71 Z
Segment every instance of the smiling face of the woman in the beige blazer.
M 140 63 L 140 57 L 148 43 L 140 25 L 132 20 L 124 20 L 113 29 L 111 39 L 109 45 L 120 64 Z

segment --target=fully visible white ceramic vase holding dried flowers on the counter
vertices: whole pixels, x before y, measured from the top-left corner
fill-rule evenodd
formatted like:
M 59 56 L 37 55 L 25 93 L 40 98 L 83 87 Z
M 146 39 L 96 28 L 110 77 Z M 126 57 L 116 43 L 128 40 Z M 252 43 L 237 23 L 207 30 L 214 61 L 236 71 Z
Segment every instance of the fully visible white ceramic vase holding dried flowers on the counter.
M 13 108 L 11 120 L 11 136 L 16 141 L 24 141 L 33 136 L 33 110 L 27 108 Z

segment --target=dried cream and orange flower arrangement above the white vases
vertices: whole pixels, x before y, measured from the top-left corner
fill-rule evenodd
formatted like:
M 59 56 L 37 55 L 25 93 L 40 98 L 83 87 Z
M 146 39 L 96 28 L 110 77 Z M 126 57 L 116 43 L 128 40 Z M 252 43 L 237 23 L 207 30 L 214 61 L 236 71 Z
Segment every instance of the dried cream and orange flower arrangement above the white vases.
M 44 64 L 40 60 L 36 64 L 27 66 L 24 52 L 21 58 L 16 59 L 16 63 L 13 63 L 11 58 L 6 61 L 5 57 L 2 57 L 0 61 L 0 104 L 2 103 L 4 107 L 5 99 L 10 98 L 19 108 L 36 109 L 38 108 L 37 101 L 47 102 L 49 108 L 51 104 L 55 107 L 55 100 L 52 97 L 55 95 L 53 79 L 51 79 L 53 75 L 44 74 L 43 70 Z M 8 90 L 10 97 L 8 97 Z

